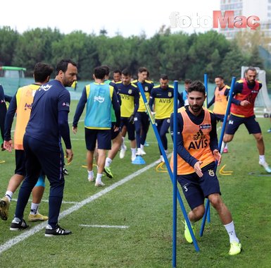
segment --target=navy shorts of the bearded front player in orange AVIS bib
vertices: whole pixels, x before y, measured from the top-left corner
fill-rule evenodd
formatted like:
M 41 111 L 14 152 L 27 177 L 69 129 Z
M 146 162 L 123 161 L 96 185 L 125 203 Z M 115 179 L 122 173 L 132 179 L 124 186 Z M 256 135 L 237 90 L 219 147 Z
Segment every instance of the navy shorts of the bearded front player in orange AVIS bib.
M 212 193 L 220 193 L 218 177 L 215 174 L 215 162 L 203 166 L 201 178 L 196 172 L 178 175 L 177 180 L 182 185 L 182 191 L 191 209 L 204 204 L 204 199 Z

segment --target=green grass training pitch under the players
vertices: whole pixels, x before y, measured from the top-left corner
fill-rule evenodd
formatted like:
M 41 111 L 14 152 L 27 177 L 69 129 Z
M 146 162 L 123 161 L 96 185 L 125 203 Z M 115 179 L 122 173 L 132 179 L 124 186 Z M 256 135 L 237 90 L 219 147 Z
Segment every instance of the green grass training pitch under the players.
M 73 121 L 76 104 L 73 102 L 71 106 L 70 121 Z M 259 118 L 259 122 L 266 159 L 271 164 L 271 134 L 266 133 L 270 119 Z M 71 133 L 71 138 L 74 159 L 66 166 L 69 175 L 65 176 L 60 224 L 73 234 L 46 238 L 44 223 L 30 223 L 30 229 L 25 231 L 9 231 L 16 205 L 13 200 L 8 220 L 0 221 L 0 267 L 171 267 L 172 184 L 168 173 L 156 171 L 153 164 L 159 158 L 153 130 L 147 137 L 150 146 L 146 147 L 146 164 L 131 164 L 129 150 L 125 159 L 117 155 L 111 165 L 114 178 L 103 177 L 106 183 L 103 188 L 89 183 L 87 169 L 82 167 L 86 164 L 82 122 L 77 135 Z M 168 138 L 172 151 L 171 138 Z M 126 145 L 129 146 L 128 142 Z M 0 164 L 0 195 L 4 195 L 14 171 L 14 154 L 1 152 L 0 160 L 5 161 Z M 151 164 L 153 166 L 149 166 Z M 178 205 L 177 267 L 271 267 L 271 176 L 258 165 L 256 142 L 244 126 L 229 144 L 229 153 L 223 154 L 224 164 L 225 171 L 233 171 L 233 174 L 221 176 L 218 173 L 222 197 L 232 212 L 244 250 L 237 256 L 227 255 L 227 232 L 211 208 L 211 222 L 206 224 L 201 238 L 198 235 L 201 223 L 196 225 L 200 248 L 200 252 L 196 252 L 194 245 L 184 239 L 183 217 Z M 140 171 L 144 168 L 145 171 Z M 122 181 L 123 178 L 127 181 Z M 48 195 L 49 182 L 46 181 L 44 202 L 39 208 L 42 214 L 48 213 Z M 17 197 L 18 190 L 13 199 Z M 187 207 L 187 203 L 184 204 Z M 29 212 L 30 203 L 25 209 L 25 219 Z

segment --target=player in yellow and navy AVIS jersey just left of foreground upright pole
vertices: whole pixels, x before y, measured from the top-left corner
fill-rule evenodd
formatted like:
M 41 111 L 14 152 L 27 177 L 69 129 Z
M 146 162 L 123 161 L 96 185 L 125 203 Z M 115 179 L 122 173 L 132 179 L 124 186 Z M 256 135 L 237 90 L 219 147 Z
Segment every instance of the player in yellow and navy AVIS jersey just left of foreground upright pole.
M 171 85 L 168 85 L 168 75 L 160 75 L 160 85 L 156 85 L 151 90 L 151 97 L 149 100 L 149 106 L 153 112 L 153 104 L 155 106 L 155 118 L 158 133 L 160 135 L 165 153 L 168 154 L 168 139 L 166 134 L 168 133 L 168 128 L 170 127 L 170 114 L 173 112 L 173 98 L 174 91 Z M 178 94 L 179 102 L 181 97 Z M 160 147 L 158 147 L 160 150 Z M 160 162 L 165 162 L 163 154 L 160 150 Z

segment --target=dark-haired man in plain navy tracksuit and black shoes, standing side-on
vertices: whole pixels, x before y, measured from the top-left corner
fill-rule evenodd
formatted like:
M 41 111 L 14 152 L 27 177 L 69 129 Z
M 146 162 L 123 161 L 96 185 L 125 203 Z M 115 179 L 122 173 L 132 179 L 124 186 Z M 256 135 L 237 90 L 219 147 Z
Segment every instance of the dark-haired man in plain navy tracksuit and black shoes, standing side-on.
M 34 95 L 30 120 L 23 138 L 26 177 L 20 187 L 11 231 L 27 228 L 23 212 L 40 172 L 44 171 L 50 182 L 49 219 L 45 236 L 65 236 L 71 233 L 58 225 L 58 216 L 65 184 L 61 138 L 65 143 L 68 163 L 73 159 L 68 125 L 70 92 L 65 87 L 70 87 L 76 77 L 76 63 L 61 60 L 56 66 L 55 80 L 39 87 Z

